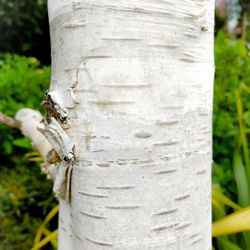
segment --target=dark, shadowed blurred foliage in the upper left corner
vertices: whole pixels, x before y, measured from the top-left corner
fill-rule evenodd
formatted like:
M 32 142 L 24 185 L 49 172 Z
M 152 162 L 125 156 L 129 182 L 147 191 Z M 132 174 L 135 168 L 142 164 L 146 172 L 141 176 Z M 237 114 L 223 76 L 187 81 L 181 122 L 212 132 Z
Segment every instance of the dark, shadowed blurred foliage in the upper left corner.
M 46 0 L 0 0 L 0 52 L 35 56 L 50 63 Z

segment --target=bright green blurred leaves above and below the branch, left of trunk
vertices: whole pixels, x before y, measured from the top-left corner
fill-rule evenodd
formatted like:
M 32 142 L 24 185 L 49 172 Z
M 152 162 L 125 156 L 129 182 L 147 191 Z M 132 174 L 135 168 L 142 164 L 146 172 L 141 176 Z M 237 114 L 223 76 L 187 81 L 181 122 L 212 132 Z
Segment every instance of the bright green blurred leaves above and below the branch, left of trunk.
M 15 116 L 20 108 L 41 111 L 40 102 L 49 86 L 50 67 L 37 59 L 6 54 L 0 57 L 0 112 Z M 14 147 L 29 148 L 28 139 L 19 131 L 0 125 L 0 156 L 10 155 Z

